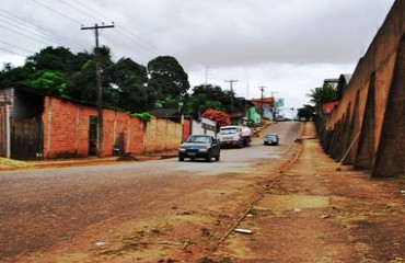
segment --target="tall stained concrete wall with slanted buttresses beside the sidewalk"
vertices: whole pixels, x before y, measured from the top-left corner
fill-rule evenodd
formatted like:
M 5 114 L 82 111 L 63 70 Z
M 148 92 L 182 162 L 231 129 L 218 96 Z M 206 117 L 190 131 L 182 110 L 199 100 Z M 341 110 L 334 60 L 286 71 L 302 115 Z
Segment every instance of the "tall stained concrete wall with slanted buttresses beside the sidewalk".
M 375 176 L 404 174 L 404 37 L 405 0 L 397 0 L 358 62 L 339 105 L 319 124 L 323 146 L 333 158 Z

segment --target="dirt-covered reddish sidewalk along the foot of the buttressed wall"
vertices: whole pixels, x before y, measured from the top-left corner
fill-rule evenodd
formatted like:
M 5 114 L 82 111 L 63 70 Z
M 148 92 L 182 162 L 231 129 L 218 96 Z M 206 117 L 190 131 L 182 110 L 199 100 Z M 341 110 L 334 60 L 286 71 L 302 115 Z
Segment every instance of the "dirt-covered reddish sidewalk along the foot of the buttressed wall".
M 405 180 L 370 180 L 337 165 L 306 123 L 298 159 L 238 226 L 253 235 L 231 235 L 216 256 L 220 262 L 405 262 Z

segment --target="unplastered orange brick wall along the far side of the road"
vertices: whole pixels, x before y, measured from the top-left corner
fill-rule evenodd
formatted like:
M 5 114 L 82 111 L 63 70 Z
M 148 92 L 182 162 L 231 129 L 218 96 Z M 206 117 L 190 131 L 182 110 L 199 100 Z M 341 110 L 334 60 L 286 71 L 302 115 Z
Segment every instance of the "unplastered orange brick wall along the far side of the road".
M 90 118 L 97 116 L 95 107 L 46 96 L 43 114 L 44 157 L 72 157 L 89 155 Z M 127 113 L 103 111 L 104 156 L 131 152 L 140 155 L 176 149 L 182 139 L 181 124 L 152 117 L 143 123 Z

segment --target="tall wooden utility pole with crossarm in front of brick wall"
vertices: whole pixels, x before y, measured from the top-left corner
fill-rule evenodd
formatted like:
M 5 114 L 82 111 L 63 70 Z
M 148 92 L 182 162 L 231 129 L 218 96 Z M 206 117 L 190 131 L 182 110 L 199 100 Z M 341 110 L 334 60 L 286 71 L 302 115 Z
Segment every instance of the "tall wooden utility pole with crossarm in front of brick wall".
M 95 84 L 97 90 L 97 157 L 104 157 L 104 133 L 103 133 L 103 88 L 101 81 L 101 56 L 99 52 L 99 30 L 114 27 L 111 25 L 82 26 L 81 30 L 94 30 L 95 34 Z

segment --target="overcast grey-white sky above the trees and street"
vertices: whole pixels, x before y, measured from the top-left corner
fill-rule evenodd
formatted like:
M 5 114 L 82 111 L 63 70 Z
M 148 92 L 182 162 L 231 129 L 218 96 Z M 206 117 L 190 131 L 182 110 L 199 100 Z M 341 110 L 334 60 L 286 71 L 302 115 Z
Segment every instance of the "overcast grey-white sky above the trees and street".
M 351 73 L 394 0 L 1 0 L 0 61 L 21 66 L 46 46 L 91 50 L 94 33 L 114 59 L 147 65 L 173 56 L 190 85 L 211 83 L 247 99 L 309 102 L 324 79 Z M 286 111 L 287 112 L 287 111 Z

